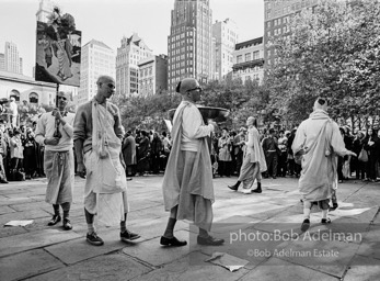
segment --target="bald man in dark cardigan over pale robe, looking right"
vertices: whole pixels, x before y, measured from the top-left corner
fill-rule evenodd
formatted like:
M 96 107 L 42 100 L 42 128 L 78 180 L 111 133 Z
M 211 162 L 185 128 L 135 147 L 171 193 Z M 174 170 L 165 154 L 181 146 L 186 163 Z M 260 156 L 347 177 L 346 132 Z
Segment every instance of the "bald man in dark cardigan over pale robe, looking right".
M 140 236 L 126 228 L 128 201 L 122 154 L 124 128 L 118 108 L 107 101 L 115 93 L 115 80 L 110 76 L 101 76 L 96 85 L 96 95 L 77 111 L 73 139 L 77 171 L 80 177 L 85 177 L 87 241 L 101 246 L 104 241 L 95 231 L 95 214 L 99 223 L 107 226 L 119 223 L 123 241 L 135 240 Z

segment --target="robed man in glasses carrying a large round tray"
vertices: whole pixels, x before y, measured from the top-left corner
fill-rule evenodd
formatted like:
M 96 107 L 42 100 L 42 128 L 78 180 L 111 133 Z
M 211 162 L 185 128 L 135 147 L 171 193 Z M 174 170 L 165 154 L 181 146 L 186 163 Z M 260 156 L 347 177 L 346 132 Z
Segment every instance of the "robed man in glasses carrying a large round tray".
M 224 243 L 209 235 L 212 224 L 214 186 L 207 136 L 216 123 L 205 125 L 195 102 L 200 100 L 201 88 L 194 78 L 183 79 L 176 87 L 182 102 L 174 113 L 173 146 L 168 159 L 162 190 L 165 211 L 170 211 L 166 229 L 160 244 L 181 247 L 173 232 L 177 220 L 193 221 L 199 227 L 197 243 L 218 246 Z

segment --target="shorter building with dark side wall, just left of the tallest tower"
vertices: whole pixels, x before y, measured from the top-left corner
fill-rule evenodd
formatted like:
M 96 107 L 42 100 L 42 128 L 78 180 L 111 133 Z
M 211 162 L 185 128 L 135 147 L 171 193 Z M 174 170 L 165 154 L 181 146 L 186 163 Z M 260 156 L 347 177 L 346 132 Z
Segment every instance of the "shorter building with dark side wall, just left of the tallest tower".
M 152 95 L 168 90 L 168 56 L 159 55 L 139 63 L 139 94 Z

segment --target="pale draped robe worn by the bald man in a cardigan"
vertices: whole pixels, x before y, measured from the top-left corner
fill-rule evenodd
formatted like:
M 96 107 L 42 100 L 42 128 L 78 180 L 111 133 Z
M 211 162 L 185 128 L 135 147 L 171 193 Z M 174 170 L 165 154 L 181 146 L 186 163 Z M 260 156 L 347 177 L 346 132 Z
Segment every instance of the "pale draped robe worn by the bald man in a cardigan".
M 84 207 L 97 214 L 100 223 L 116 225 L 128 212 L 127 179 L 119 159 L 122 140 L 107 103 L 103 106 L 92 101 L 92 150 L 84 154 Z

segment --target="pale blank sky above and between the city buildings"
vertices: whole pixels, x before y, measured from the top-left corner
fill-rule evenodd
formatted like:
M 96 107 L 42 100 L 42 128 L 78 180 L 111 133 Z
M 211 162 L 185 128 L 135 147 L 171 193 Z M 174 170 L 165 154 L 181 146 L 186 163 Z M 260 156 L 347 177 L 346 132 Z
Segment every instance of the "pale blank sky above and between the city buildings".
M 154 55 L 168 54 L 171 11 L 174 0 L 56 0 L 64 13 L 76 19 L 82 46 L 91 40 L 115 50 L 123 36 L 134 32 Z M 36 12 L 39 0 L 0 0 L 0 53 L 5 42 L 18 45 L 23 74 L 32 76 L 35 65 Z M 264 0 L 210 0 L 212 23 L 226 19 L 238 25 L 239 42 L 264 34 Z

